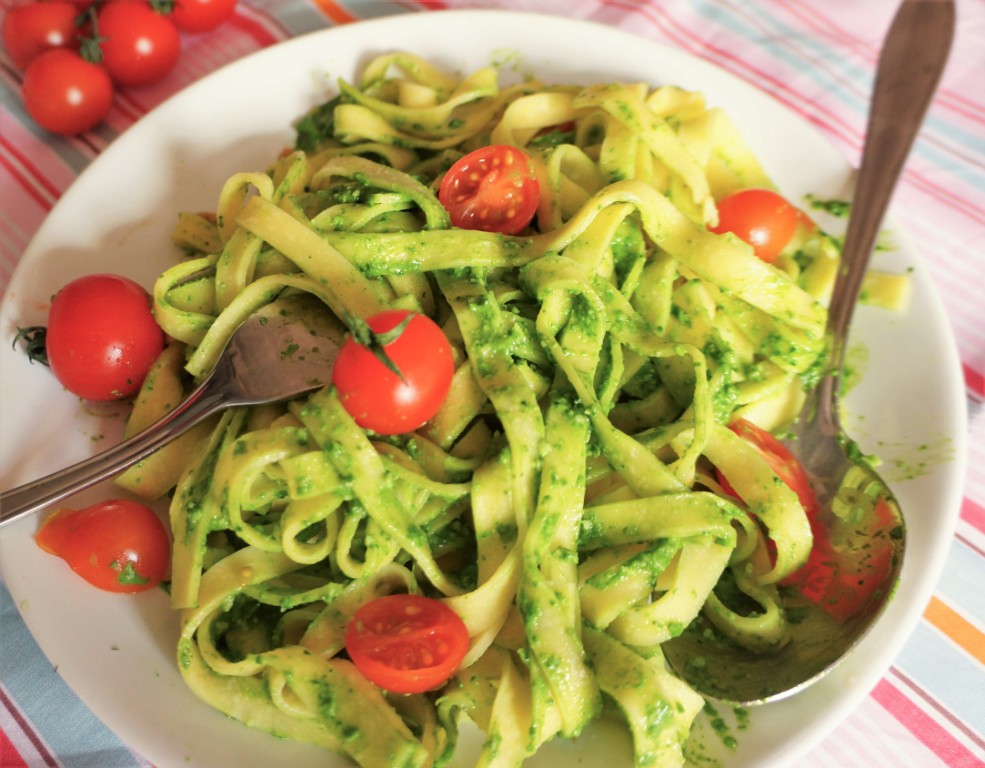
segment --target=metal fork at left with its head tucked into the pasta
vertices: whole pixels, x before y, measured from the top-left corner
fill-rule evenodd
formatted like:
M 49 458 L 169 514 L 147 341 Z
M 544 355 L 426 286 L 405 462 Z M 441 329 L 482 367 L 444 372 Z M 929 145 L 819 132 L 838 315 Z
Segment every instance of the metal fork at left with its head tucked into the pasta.
M 236 330 L 202 383 L 143 432 L 59 472 L 0 493 L 0 526 L 122 472 L 216 411 L 289 400 L 325 386 L 343 340 L 341 326 L 304 302 L 268 304 Z M 317 331 L 315 328 L 317 327 Z

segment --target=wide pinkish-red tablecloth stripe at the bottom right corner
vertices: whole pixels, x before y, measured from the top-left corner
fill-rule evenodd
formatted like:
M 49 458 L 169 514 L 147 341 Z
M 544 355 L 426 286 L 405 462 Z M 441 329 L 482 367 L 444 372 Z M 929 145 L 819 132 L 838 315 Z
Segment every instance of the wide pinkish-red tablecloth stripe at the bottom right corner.
M 899 670 L 894 670 L 894 672 L 901 681 L 912 689 L 913 693 L 924 700 L 929 708 L 937 710 L 941 717 L 947 718 L 956 729 L 968 736 L 973 742 L 978 743 L 980 741 L 968 728 L 954 721 L 950 713 L 918 689 L 912 681 L 900 675 Z M 949 768 L 981 768 L 982 761 L 978 756 L 958 741 L 950 731 L 931 717 L 915 700 L 888 680 L 883 679 L 879 682 L 872 692 L 872 698 L 906 726 L 910 733 L 943 760 Z M 980 746 L 985 748 L 985 744 L 980 744 Z

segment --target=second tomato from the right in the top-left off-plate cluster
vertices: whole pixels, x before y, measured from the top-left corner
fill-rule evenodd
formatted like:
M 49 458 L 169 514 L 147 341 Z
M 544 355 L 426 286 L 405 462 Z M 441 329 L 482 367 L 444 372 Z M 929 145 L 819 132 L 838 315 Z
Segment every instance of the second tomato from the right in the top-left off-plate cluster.
M 181 37 L 167 16 L 138 0 L 115 0 L 99 9 L 105 38 L 103 66 L 120 85 L 149 85 L 166 77 L 181 53 Z

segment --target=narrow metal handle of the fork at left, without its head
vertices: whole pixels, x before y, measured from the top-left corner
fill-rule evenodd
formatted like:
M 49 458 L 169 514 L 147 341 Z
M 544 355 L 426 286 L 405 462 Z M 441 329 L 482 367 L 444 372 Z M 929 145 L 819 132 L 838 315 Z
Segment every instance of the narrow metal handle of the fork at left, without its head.
M 0 493 L 0 527 L 122 472 L 224 407 L 224 396 L 208 384 L 206 380 L 177 408 L 118 445 Z

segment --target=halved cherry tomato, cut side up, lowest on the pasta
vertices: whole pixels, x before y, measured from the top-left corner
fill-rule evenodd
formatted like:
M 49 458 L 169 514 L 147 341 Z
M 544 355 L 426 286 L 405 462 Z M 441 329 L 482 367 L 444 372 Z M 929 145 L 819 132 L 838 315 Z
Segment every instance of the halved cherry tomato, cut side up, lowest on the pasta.
M 469 631 L 438 600 L 387 595 L 356 611 L 345 648 L 370 682 L 394 693 L 422 693 L 455 673 L 468 652 Z

